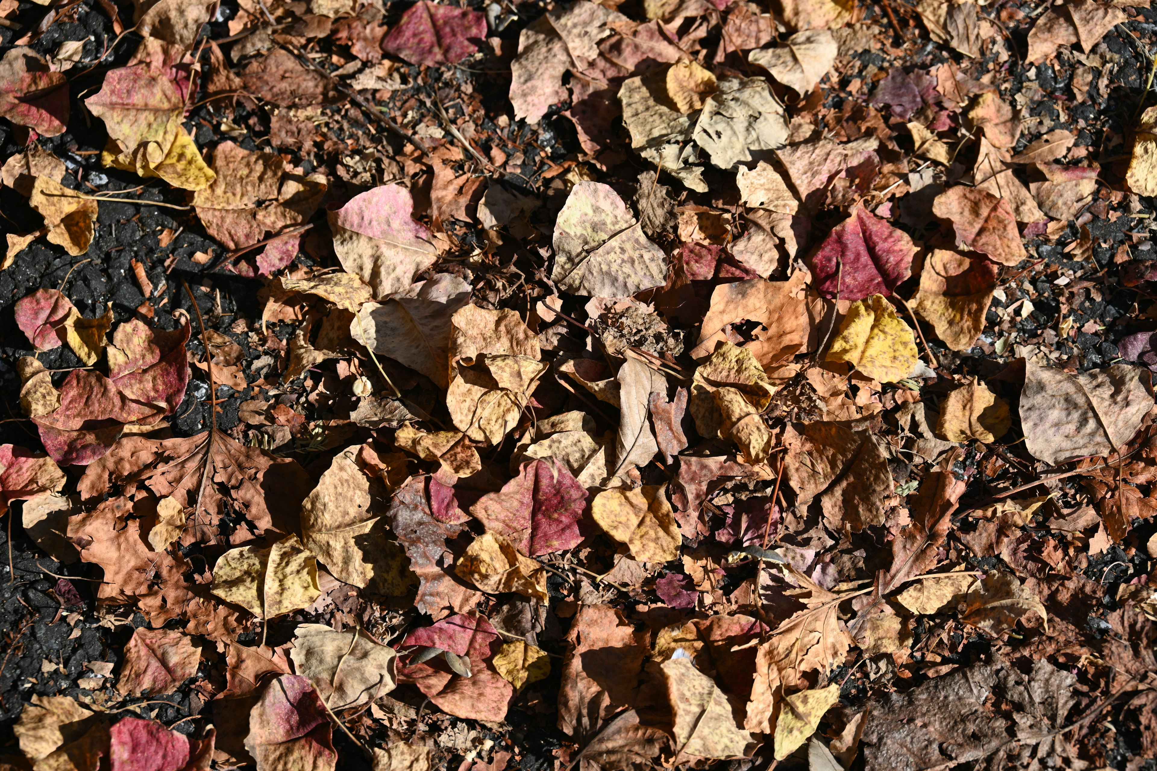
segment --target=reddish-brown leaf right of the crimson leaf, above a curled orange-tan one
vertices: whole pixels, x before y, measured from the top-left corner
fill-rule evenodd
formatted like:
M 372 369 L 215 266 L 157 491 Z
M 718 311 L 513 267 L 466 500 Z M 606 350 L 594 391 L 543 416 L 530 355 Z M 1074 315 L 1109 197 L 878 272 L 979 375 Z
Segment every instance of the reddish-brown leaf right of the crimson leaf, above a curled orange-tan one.
M 978 187 L 957 185 L 936 197 L 933 214 L 952 223 L 958 243 L 1001 265 L 1026 257 L 1008 201 Z

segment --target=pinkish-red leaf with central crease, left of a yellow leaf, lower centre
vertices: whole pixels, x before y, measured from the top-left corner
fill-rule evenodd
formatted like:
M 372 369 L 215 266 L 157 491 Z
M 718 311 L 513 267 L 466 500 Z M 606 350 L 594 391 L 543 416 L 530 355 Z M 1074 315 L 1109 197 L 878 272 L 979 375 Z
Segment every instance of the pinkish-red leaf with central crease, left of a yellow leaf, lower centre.
M 562 464 L 531 460 L 501 492 L 488 492 L 470 509 L 486 529 L 504 535 L 523 554 L 537 557 L 582 541 L 578 520 L 587 490 Z

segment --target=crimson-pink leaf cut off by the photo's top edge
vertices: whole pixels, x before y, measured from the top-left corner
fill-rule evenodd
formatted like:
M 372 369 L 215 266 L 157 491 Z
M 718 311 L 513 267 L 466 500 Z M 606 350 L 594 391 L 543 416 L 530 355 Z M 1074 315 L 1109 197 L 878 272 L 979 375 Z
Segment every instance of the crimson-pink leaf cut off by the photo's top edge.
M 415 65 L 456 65 L 486 38 L 486 16 L 477 10 L 421 0 L 382 40 L 382 49 Z

